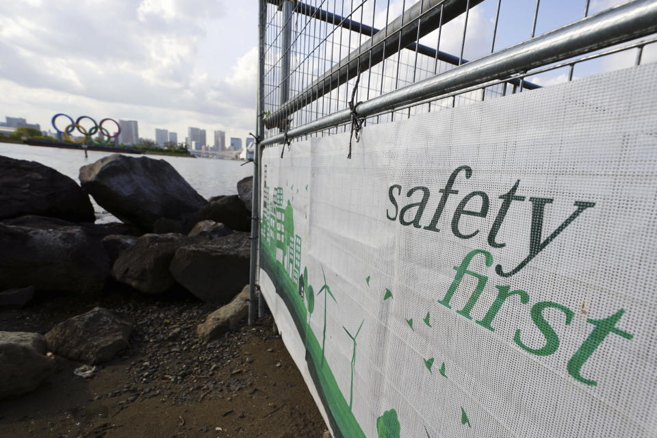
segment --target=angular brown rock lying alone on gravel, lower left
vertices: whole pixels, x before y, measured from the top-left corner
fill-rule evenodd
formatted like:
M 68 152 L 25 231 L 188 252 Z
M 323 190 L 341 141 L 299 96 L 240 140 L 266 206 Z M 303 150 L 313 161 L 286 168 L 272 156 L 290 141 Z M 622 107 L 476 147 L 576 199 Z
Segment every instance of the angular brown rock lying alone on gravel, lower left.
M 48 348 L 71 361 L 107 362 L 128 346 L 131 323 L 102 307 L 60 322 L 46 333 Z

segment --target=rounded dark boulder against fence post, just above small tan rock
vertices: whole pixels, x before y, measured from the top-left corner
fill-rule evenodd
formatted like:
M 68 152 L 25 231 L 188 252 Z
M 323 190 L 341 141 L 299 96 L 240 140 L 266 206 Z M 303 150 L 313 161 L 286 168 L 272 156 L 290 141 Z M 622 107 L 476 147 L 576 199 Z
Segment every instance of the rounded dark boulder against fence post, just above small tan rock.
M 249 253 L 249 235 L 235 231 L 181 246 L 171 260 L 170 272 L 201 300 L 226 303 L 248 283 Z

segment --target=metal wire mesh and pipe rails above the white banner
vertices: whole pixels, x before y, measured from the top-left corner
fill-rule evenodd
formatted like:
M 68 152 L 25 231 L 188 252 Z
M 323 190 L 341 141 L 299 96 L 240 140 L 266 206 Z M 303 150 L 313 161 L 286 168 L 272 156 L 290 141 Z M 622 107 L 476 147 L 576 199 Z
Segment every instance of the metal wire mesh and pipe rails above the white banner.
M 385 123 L 652 62 L 656 3 L 261 0 L 259 133 L 326 136 L 350 103 Z

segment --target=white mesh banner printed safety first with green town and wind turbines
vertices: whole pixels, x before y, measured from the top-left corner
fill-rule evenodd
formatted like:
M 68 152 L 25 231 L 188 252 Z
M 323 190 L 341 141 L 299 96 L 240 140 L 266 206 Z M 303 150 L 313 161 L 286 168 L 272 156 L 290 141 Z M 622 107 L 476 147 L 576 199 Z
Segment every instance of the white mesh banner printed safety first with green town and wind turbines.
M 657 437 L 656 77 L 264 151 L 260 285 L 335 437 Z

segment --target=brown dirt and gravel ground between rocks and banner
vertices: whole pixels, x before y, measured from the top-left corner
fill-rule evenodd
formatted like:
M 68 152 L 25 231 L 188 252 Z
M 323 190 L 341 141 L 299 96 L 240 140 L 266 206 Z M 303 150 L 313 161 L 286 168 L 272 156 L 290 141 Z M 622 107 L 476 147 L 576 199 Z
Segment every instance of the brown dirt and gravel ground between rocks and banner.
M 272 319 L 214 342 L 196 324 L 216 306 L 179 291 L 41 294 L 0 309 L 0 330 L 45 333 L 96 305 L 132 320 L 131 345 L 91 378 L 57 358 L 36 391 L 0 401 L 0 437 L 322 437 L 326 426 Z

